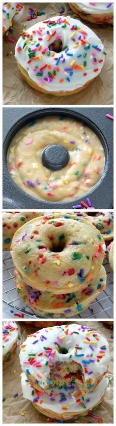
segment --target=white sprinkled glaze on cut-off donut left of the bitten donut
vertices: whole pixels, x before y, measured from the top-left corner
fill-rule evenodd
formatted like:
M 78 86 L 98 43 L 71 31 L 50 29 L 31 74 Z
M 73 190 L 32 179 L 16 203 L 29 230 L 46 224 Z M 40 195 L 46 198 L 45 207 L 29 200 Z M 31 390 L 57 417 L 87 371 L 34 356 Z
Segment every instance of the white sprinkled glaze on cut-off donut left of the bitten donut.
M 15 330 L 10 331 L 8 327 L 15 327 Z M 6 329 L 7 333 L 3 333 L 3 330 Z M 15 321 L 3 321 L 2 323 L 2 353 L 5 355 L 14 345 L 18 338 L 18 326 Z M 5 336 L 5 338 L 4 338 Z

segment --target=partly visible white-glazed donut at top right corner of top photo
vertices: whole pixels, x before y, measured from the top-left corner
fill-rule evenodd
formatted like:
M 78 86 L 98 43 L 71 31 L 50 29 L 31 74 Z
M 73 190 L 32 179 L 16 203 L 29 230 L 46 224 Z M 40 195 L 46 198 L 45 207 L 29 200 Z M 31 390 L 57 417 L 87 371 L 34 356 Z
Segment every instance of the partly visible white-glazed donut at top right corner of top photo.
M 114 3 L 69 3 L 73 12 L 88 22 L 112 24 L 114 22 Z

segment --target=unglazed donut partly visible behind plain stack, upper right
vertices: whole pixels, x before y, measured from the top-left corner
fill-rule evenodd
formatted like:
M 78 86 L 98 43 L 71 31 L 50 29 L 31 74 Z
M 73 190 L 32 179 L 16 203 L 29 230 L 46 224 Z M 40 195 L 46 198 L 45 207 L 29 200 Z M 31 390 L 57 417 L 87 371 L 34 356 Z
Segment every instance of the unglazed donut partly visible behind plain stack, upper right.
M 101 233 L 105 241 L 111 241 L 114 237 L 114 213 L 99 212 L 96 216 L 87 216 L 87 221 L 94 225 Z

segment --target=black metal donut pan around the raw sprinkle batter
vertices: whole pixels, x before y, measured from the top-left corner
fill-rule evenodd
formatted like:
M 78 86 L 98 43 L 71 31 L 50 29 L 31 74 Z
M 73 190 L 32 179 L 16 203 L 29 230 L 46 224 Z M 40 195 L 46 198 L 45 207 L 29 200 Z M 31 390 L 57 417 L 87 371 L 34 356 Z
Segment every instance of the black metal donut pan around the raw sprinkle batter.
M 96 209 L 113 208 L 113 108 L 3 108 L 3 209 L 71 209 L 90 199 Z M 86 195 L 62 202 L 50 202 L 26 194 L 13 182 L 6 165 L 6 154 L 14 135 L 29 122 L 49 117 L 69 117 L 82 121 L 100 138 L 105 151 L 103 174 Z M 6 134 L 7 133 L 7 134 Z

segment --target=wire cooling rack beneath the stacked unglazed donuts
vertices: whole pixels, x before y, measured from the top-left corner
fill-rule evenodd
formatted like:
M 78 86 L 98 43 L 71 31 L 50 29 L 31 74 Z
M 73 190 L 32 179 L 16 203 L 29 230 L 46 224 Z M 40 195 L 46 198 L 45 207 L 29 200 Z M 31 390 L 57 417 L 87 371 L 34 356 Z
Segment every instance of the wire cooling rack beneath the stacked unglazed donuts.
M 105 290 L 99 294 L 89 308 L 76 315 L 76 318 L 113 318 L 113 272 L 110 271 L 108 253 L 103 265 L 107 273 L 107 285 Z M 26 317 L 40 318 L 34 311 L 24 305 L 18 296 L 14 283 L 14 265 L 10 252 L 3 252 L 3 304 L 12 310 L 17 310 Z M 48 318 L 44 315 L 44 318 Z M 72 318 L 74 318 L 72 316 Z

